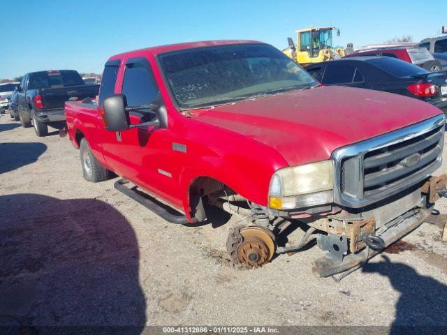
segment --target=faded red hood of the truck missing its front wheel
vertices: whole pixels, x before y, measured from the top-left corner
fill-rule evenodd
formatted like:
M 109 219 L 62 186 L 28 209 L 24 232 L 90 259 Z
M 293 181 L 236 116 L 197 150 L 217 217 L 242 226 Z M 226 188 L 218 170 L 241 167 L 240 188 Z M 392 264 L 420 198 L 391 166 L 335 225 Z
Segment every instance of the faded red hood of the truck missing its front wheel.
M 289 165 L 299 165 L 329 159 L 335 149 L 429 119 L 441 110 L 397 94 L 316 87 L 191 114 L 273 147 Z

